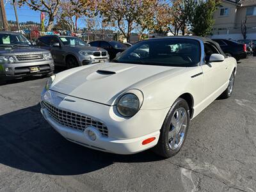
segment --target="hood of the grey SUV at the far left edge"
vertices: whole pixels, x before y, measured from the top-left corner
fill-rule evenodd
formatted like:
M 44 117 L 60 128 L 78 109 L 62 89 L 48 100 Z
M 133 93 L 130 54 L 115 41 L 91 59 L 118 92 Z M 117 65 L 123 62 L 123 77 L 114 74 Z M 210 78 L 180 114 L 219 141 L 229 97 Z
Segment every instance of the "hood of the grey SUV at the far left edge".
M 27 54 L 27 53 L 37 53 L 37 52 L 49 52 L 45 49 L 39 49 L 36 47 L 0 47 L 0 55 L 13 55 L 13 54 Z

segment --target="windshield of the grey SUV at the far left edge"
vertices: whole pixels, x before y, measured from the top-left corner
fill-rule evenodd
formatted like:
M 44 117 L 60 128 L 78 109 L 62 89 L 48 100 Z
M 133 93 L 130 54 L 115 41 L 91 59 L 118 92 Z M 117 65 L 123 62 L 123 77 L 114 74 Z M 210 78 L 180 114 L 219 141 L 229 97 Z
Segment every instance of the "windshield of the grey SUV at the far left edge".
M 31 45 L 29 40 L 21 34 L 0 33 L 0 46 Z

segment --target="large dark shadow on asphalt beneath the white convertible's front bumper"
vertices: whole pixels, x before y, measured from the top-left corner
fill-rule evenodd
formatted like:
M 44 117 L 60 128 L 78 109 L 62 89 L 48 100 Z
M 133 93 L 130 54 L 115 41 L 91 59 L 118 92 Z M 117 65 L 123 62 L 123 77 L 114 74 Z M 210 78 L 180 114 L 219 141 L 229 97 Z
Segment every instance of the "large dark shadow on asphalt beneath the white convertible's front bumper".
M 0 163 L 27 172 L 77 175 L 115 162 L 160 161 L 150 150 L 130 156 L 108 154 L 65 140 L 47 124 L 40 104 L 0 116 Z

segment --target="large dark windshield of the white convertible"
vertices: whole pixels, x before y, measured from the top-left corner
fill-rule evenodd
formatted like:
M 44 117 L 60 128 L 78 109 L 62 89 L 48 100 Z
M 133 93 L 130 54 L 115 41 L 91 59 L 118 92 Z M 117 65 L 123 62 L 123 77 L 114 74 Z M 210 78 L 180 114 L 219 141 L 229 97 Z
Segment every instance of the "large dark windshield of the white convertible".
M 200 44 L 186 38 L 166 38 L 139 42 L 113 60 L 118 63 L 194 67 L 200 62 Z

